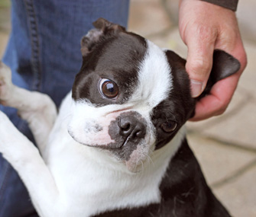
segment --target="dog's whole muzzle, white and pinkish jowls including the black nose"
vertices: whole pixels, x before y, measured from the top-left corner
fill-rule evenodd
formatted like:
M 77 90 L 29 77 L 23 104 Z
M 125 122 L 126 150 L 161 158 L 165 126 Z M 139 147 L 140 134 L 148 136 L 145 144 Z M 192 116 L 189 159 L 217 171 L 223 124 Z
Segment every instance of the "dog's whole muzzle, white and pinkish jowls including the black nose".
M 88 119 L 81 123 L 70 123 L 70 136 L 79 144 L 102 150 L 115 158 L 115 162 L 125 164 L 128 171 L 141 171 L 141 164 L 154 151 L 154 131 L 134 110 L 122 112 L 115 119 L 103 118 L 101 122 Z

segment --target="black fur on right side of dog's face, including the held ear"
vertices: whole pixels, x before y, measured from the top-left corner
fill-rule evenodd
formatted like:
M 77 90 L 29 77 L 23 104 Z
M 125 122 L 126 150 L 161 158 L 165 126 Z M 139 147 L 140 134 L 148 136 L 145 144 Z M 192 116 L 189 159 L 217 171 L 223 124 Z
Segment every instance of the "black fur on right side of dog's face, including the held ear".
M 190 95 L 190 79 L 185 69 L 186 60 L 170 50 L 166 51 L 166 55 L 171 68 L 170 73 L 173 76 L 173 90 L 170 91 L 167 100 L 162 101 L 154 108 L 152 114 L 152 121 L 157 129 L 157 149 L 170 142 L 180 127 L 186 123 L 186 120 L 194 116 L 196 101 L 209 94 L 217 81 L 233 75 L 240 69 L 240 63 L 237 59 L 216 49 L 213 53 L 212 71 L 206 88 L 199 97 L 193 98 Z M 172 133 L 166 133 L 160 128 L 160 124 L 166 120 L 174 120 L 177 123 L 177 129 Z

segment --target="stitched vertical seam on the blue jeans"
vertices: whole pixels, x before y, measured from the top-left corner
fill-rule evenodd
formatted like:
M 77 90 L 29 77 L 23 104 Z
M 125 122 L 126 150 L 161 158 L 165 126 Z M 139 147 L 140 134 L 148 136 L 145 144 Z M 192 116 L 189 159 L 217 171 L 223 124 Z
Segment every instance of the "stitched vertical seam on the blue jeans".
M 33 0 L 25 0 L 25 8 L 28 13 L 28 26 L 31 34 L 31 68 L 33 72 L 33 81 L 31 89 L 41 90 L 41 61 L 40 61 L 40 42 L 38 37 L 37 18 L 34 11 Z

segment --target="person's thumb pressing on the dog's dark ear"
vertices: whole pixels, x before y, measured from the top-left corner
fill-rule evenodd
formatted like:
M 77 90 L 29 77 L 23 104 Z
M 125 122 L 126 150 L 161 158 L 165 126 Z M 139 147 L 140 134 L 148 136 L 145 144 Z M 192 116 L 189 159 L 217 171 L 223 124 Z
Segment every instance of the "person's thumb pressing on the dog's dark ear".
M 191 94 L 192 97 L 198 97 L 206 88 L 212 69 L 214 40 L 211 43 L 209 38 L 202 38 L 201 35 L 190 37 L 186 45 L 188 46 L 186 72 L 190 75 Z

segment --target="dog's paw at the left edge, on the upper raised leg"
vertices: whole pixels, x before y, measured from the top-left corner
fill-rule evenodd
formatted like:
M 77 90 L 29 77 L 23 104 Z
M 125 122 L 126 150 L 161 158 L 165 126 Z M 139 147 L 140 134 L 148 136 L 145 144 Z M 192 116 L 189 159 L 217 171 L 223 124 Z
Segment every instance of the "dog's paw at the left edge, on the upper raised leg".
M 11 69 L 0 61 L 0 104 L 5 105 L 11 95 L 11 88 Z

